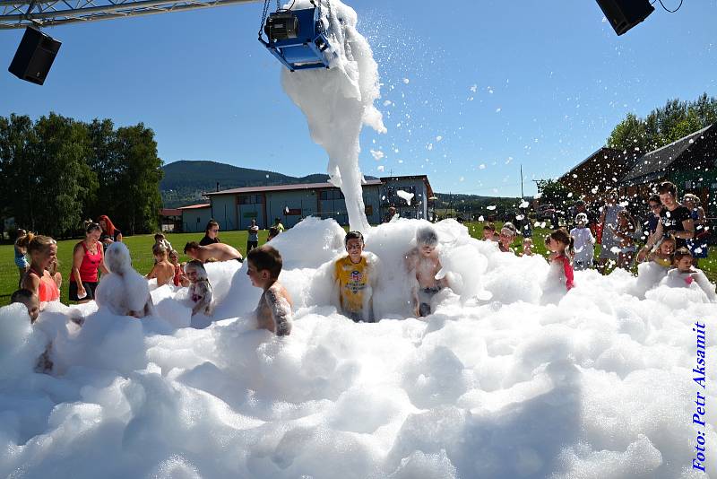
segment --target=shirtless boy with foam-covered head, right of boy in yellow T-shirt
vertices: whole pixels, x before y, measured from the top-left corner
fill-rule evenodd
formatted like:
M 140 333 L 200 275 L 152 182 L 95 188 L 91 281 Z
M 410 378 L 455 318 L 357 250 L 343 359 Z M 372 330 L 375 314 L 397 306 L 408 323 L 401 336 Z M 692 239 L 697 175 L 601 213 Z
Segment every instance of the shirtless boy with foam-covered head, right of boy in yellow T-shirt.
M 433 226 L 416 230 L 416 246 L 406 254 L 406 269 L 410 275 L 410 297 L 416 317 L 431 314 L 431 299 L 448 286 L 445 276 L 436 280 L 441 269 L 438 259 L 438 233 Z

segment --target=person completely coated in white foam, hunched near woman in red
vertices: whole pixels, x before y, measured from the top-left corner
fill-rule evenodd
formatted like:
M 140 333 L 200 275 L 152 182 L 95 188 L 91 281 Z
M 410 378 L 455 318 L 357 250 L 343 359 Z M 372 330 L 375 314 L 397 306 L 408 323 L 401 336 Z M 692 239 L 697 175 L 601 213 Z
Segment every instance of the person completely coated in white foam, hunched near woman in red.
M 154 313 L 150 287 L 142 274 L 134 271 L 125 243 L 114 242 L 105 253 L 109 274 L 102 276 L 95 300 L 99 309 L 109 309 L 117 316 L 144 318 Z

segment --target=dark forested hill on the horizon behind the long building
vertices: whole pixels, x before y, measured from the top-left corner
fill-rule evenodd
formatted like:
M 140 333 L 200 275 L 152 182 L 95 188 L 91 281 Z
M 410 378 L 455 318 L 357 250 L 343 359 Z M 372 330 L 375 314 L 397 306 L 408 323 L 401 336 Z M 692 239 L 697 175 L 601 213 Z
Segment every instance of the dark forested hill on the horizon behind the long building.
M 217 161 L 175 161 L 162 167 L 160 182 L 162 204 L 165 208 L 202 203 L 204 192 L 236 187 L 293 185 L 328 181 L 325 174 L 290 177 L 266 170 L 252 170 Z

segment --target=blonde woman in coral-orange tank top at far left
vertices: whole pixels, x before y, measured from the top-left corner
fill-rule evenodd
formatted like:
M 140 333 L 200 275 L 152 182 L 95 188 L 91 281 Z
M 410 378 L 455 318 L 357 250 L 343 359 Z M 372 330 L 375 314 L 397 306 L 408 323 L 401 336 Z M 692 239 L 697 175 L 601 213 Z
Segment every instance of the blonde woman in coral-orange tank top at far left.
M 22 247 L 30 255 L 30 269 L 22 278 L 21 287 L 38 295 L 40 305 L 59 300 L 60 291 L 46 268 L 57 258 L 57 243 L 48 236 L 28 233 L 22 238 Z

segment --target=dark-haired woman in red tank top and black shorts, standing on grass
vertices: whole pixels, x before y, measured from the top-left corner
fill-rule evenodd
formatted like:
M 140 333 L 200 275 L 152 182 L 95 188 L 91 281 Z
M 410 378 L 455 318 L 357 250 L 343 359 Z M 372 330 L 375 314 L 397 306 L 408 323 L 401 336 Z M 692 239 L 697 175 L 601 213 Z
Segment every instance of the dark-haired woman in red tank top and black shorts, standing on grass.
M 102 228 L 91 222 L 85 229 L 85 239 L 74 245 L 73 270 L 70 274 L 70 300 L 87 302 L 95 299 L 99 283 L 98 270 L 107 273 L 105 256 L 99 243 Z M 78 279 L 79 278 L 79 281 Z

